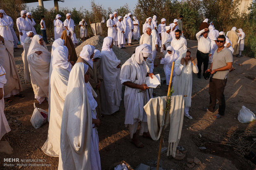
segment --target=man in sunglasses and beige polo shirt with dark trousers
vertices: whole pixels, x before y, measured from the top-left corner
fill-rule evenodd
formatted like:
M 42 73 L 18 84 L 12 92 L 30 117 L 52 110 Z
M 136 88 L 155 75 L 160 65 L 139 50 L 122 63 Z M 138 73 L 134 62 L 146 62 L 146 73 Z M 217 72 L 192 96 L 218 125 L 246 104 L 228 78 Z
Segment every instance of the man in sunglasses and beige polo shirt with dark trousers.
M 213 54 L 213 62 L 211 63 L 210 69 L 205 72 L 211 72 L 213 75 L 210 78 L 209 83 L 209 94 L 210 94 L 210 104 L 208 108 L 205 108 L 206 111 L 214 112 L 216 106 L 216 99 L 219 101 L 219 110 L 214 118 L 220 118 L 224 116 L 225 113 L 225 96 L 224 89 L 227 83 L 227 77 L 229 69 L 232 68 L 233 55 L 232 52 L 224 47 L 226 37 L 220 35 L 216 44 L 218 49 Z

